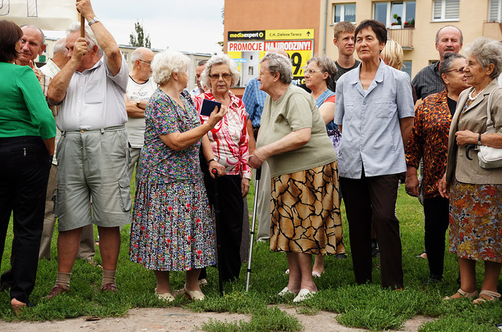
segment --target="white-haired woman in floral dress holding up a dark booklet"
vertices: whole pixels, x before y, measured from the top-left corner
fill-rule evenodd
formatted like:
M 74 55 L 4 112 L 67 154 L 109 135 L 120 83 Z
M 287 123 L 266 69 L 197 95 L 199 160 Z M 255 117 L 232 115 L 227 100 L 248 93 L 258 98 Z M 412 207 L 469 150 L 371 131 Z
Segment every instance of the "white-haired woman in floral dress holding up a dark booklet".
M 215 264 L 214 236 L 199 166 L 199 149 L 218 175 L 218 164 L 206 137 L 225 116 L 215 109 L 201 124 L 190 95 L 190 60 L 180 52 L 155 55 L 153 79 L 159 87 L 145 111 L 145 143 L 139 159 L 139 183 L 130 231 L 130 260 L 153 270 L 155 294 L 172 301 L 169 271 L 186 271 L 185 295 L 204 299 L 197 278 Z

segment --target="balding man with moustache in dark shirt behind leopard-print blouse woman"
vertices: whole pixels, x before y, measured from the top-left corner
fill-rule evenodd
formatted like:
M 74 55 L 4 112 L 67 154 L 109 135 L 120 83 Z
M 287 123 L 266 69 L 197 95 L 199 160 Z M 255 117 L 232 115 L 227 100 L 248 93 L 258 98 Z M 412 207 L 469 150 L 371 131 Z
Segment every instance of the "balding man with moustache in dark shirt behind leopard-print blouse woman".
M 436 50 L 439 52 L 439 61 L 420 70 L 411 81 L 418 99 L 423 100 L 432 93 L 439 93 L 444 90 L 439 67 L 446 52 L 460 52 L 462 42 L 464 42 L 462 31 L 456 26 L 447 25 L 438 30 L 436 33 Z

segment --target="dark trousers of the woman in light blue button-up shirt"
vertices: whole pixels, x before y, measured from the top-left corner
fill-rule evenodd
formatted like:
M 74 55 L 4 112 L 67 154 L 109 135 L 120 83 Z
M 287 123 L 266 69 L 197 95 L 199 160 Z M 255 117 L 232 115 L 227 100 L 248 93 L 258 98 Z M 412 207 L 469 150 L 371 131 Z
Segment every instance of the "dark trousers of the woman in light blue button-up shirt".
M 349 221 L 349 239 L 356 282 L 372 281 L 371 226 L 377 232 L 381 262 L 381 285 L 403 287 L 399 221 L 395 215 L 400 174 L 340 177 Z

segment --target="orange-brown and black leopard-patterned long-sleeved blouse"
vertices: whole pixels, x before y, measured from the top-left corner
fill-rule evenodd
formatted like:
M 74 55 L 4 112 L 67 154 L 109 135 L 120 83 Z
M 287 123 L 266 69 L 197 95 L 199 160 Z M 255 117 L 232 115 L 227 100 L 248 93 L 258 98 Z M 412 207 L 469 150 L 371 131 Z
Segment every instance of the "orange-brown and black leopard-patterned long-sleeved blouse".
M 415 112 L 415 124 L 406 145 L 406 165 L 418 168 L 424 160 L 424 198 L 439 196 L 437 184 L 446 172 L 448 132 L 452 116 L 448 109 L 447 92 L 425 97 Z

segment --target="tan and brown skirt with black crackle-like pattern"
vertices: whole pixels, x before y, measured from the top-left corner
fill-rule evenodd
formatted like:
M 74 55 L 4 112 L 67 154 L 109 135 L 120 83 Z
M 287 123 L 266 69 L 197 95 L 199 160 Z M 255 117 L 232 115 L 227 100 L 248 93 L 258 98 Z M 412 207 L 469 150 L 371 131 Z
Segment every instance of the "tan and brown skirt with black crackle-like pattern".
M 335 254 L 342 242 L 337 161 L 272 178 L 272 251 Z

